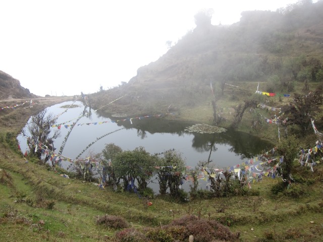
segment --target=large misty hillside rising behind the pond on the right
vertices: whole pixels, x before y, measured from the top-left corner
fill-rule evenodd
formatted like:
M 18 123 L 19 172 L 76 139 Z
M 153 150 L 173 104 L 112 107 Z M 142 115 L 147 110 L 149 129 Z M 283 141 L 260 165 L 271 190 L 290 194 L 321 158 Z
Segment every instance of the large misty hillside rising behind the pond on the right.
M 255 93 L 258 82 L 265 92 L 293 94 L 305 83 L 314 90 L 323 82 L 322 12 L 323 1 L 304 2 L 277 12 L 246 11 L 231 26 L 201 21 L 156 62 L 139 68 L 129 83 L 92 94 L 92 104 L 99 108 L 126 94 L 99 112 L 176 110 L 181 118 L 212 123 L 210 83 L 218 110 L 231 111 Z M 288 99 L 262 101 L 281 106 Z M 231 111 L 223 111 L 226 120 L 233 118 Z

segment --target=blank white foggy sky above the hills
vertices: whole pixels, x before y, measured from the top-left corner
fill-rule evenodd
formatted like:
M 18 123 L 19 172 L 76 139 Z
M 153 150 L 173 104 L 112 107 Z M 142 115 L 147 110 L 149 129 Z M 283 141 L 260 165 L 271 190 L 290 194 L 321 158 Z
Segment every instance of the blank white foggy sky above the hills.
M 212 24 L 232 24 L 248 10 L 295 0 L 0 0 L 0 70 L 31 93 L 85 94 L 118 86 L 195 28 L 212 8 Z M 317 1 L 313 1 L 317 2 Z

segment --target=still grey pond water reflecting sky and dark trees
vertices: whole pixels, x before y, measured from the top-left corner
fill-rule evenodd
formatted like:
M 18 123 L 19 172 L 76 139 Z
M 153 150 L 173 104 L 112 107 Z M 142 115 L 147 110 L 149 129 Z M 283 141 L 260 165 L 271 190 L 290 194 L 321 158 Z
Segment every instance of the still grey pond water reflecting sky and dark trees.
M 63 124 L 61 136 L 54 141 L 56 153 L 66 140 L 62 155 L 72 160 L 86 158 L 89 153 L 99 153 L 105 144 L 114 143 L 123 150 L 142 146 L 150 154 L 175 149 L 182 153 L 187 166 L 195 166 L 200 160 L 207 161 L 210 155 L 210 160 L 216 166 L 225 168 L 241 164 L 247 158 L 273 147 L 273 144 L 257 137 L 232 130 L 216 134 L 190 133 L 184 130 L 193 123 L 151 116 L 134 118 L 131 124 L 129 119 L 122 120 L 127 117 L 103 117 L 94 110 L 91 110 L 90 117 L 83 116 L 85 108 L 81 102 L 74 103 L 78 105 L 76 108 L 66 110 L 66 107 L 62 107 L 72 103 L 68 101 L 47 108 L 47 113 L 61 114 L 57 119 L 57 124 Z M 69 125 L 76 121 L 77 124 L 71 129 Z M 26 128 L 25 130 L 27 131 Z M 17 139 L 24 153 L 28 150 L 26 139 L 22 135 Z M 89 144 L 90 147 L 86 148 Z M 216 148 L 210 152 L 211 146 Z

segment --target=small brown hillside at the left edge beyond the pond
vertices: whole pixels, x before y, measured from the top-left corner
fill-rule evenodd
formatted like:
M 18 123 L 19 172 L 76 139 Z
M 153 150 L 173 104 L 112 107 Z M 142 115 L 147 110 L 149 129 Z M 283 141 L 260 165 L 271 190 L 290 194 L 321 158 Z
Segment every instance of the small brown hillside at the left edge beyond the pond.
M 22 87 L 17 79 L 14 79 L 3 71 L 0 71 L 0 87 L 0 100 L 37 97 L 30 93 L 29 89 Z

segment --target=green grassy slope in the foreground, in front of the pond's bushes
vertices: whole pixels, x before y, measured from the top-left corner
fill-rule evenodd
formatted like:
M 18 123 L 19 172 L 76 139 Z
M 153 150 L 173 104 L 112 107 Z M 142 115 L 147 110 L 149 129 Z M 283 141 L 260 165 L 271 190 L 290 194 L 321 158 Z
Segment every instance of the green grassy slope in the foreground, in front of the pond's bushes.
M 253 85 L 254 83 L 246 83 L 245 87 L 251 88 Z M 234 100 L 230 103 L 229 100 L 230 98 L 224 98 L 219 102 L 229 106 L 234 103 Z M 201 112 L 210 111 L 209 109 L 209 105 L 197 108 Z M 295 165 L 293 174 L 297 173 L 314 181 L 306 186 L 306 194 L 298 199 L 273 196 L 270 189 L 279 179 L 265 178 L 261 184 L 252 185 L 252 190 L 259 191 L 260 196 L 195 200 L 186 204 L 156 198 L 151 200 L 153 205 L 147 207 L 146 200 L 139 199 L 134 194 L 115 193 L 109 187 L 99 190 L 92 183 L 63 178 L 59 175 L 60 172 L 55 173 L 50 168 L 31 161 L 24 163 L 20 152 L 15 147 L 10 147 L 5 137 L 7 132 L 18 134 L 28 116 L 36 111 L 38 110 L 17 108 L 8 110 L 5 115 L 2 113 L 0 168 L 3 169 L 1 172 L 5 170 L 11 174 L 12 184 L 10 179 L 3 179 L 0 184 L 0 240 L 43 241 L 49 238 L 49 241 L 109 241 L 115 230 L 95 223 L 97 215 L 106 213 L 121 215 L 138 229 L 159 226 L 160 223 L 165 225 L 173 216 L 200 214 L 230 225 L 233 231 L 241 233 L 243 241 L 264 241 L 271 237 L 277 241 L 321 240 L 323 169 L 319 165 L 313 173 L 306 167 Z M 182 113 L 178 118 L 191 119 L 190 113 L 195 112 L 191 110 Z M 195 118 L 196 116 L 192 117 L 192 120 Z M 9 127 L 8 123 L 11 124 Z M 244 121 L 244 124 L 247 127 L 248 122 Z M 270 129 L 268 127 L 270 126 L 264 126 Z M 268 136 L 270 134 L 275 136 L 268 130 Z M 2 176 L 3 174 L 1 173 Z M 19 202 L 23 195 L 29 205 L 27 202 Z M 53 209 L 48 209 L 46 204 L 52 201 L 55 205 Z

